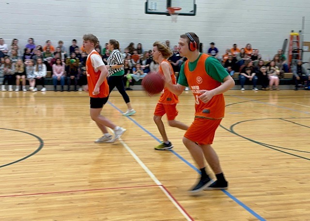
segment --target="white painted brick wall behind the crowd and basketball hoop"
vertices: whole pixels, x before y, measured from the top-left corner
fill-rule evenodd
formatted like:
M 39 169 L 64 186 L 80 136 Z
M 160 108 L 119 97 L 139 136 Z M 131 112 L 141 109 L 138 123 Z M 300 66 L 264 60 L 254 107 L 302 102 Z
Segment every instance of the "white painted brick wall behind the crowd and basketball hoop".
M 282 47 L 291 30 L 298 32 L 306 17 L 304 40 L 310 41 L 310 0 L 196 0 L 197 15 L 171 17 L 144 14 L 145 0 L 0 0 L 0 37 L 7 44 L 19 39 L 26 45 L 54 46 L 63 40 L 66 47 L 83 34 L 97 35 L 104 45 L 115 38 L 125 48 L 142 43 L 144 50 L 155 40 L 169 39 L 176 45 L 180 34 L 195 32 L 206 51 L 210 42 L 223 54 L 233 43 L 239 48 L 251 43 L 266 58 Z M 309 60 L 310 52 L 304 60 Z

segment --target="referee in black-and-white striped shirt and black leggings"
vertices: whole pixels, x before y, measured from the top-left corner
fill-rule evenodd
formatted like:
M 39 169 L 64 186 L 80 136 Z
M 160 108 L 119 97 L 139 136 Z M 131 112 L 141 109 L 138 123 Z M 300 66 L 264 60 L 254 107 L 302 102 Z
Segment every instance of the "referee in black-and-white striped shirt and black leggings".
M 132 108 L 129 97 L 125 91 L 124 87 L 124 64 L 120 52 L 120 44 L 115 39 L 110 39 L 108 43 L 108 50 L 112 51 L 108 58 L 108 65 L 106 66 L 109 70 L 109 95 L 111 91 L 116 87 L 120 94 L 123 96 L 124 101 L 127 105 L 127 111 L 123 113 L 123 116 L 131 116 L 136 113 Z

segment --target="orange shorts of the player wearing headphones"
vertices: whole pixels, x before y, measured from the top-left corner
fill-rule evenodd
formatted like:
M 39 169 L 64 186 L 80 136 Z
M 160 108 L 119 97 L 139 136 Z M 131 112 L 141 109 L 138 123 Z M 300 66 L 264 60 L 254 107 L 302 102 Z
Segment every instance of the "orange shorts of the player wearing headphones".
M 185 133 L 191 141 L 202 144 L 212 144 L 215 131 L 222 119 L 195 118 Z

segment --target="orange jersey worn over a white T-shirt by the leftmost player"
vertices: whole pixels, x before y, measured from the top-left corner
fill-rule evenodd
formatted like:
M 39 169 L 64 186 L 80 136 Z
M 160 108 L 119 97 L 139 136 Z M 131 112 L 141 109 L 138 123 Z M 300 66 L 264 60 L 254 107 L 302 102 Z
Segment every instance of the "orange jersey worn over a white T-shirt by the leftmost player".
M 99 53 L 97 51 L 92 51 L 86 60 L 86 76 L 87 76 L 87 82 L 88 82 L 88 92 L 89 92 L 89 96 L 92 98 L 106 98 L 109 96 L 109 85 L 108 85 L 108 80 L 107 78 L 104 80 L 104 82 L 100 85 L 100 89 L 99 89 L 99 94 L 97 95 L 93 95 L 93 90 L 95 88 L 95 85 L 100 77 L 101 71 L 98 70 L 97 72 L 95 71 L 95 69 L 93 68 L 93 64 L 91 61 L 91 56 L 93 54 L 97 54 L 98 56 Z M 102 62 L 102 64 L 104 65 L 104 63 Z

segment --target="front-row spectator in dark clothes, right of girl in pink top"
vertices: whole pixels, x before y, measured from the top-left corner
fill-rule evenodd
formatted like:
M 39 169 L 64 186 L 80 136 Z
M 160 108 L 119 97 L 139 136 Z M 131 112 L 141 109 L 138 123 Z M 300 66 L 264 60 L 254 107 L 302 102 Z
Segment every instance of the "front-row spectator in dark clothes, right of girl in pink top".
M 67 71 L 67 84 L 70 91 L 71 82 L 74 81 L 74 91 L 78 91 L 78 66 L 79 59 L 75 52 L 71 53 L 71 56 L 66 59 L 66 71 Z

